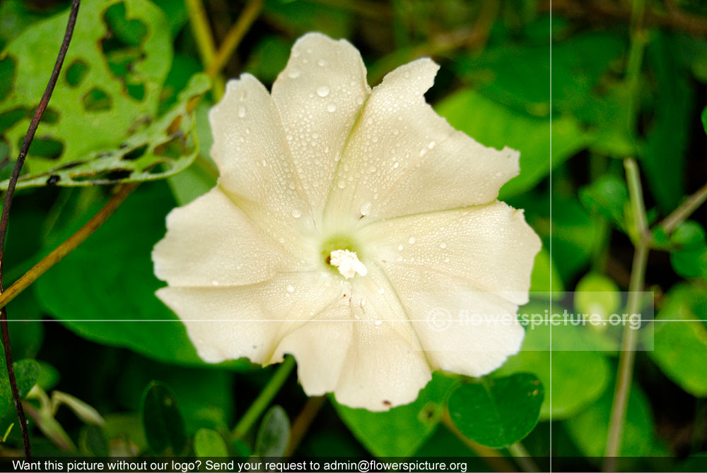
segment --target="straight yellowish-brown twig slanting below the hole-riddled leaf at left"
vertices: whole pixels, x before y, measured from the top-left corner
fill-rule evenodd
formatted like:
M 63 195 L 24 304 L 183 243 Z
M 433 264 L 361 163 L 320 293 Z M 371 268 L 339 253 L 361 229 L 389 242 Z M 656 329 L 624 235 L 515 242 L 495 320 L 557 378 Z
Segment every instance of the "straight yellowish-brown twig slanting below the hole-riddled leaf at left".
M 103 223 L 108 220 L 108 217 L 119 208 L 120 204 L 132 193 L 137 184 L 123 184 L 118 188 L 110 200 L 103 205 L 103 208 L 98 210 L 98 213 L 93 215 L 86 224 L 83 225 L 76 233 L 69 236 L 62 244 L 57 246 L 51 253 L 42 258 L 42 260 L 33 266 L 27 273 L 23 274 L 18 280 L 13 282 L 13 285 L 0 294 L 0 308 L 4 308 L 12 299 L 15 299 L 18 294 L 27 289 L 41 275 L 47 272 L 55 264 L 62 261 L 66 255 L 74 251 L 80 244 L 83 243 L 89 236 L 93 234 Z

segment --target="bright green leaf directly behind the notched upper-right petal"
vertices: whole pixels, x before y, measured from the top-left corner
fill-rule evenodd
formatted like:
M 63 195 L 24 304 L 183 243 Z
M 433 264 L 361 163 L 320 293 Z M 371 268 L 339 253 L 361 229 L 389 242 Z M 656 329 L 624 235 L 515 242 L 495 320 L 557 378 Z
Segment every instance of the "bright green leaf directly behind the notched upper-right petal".
M 532 188 L 549 174 L 551 163 L 556 167 L 589 143 L 590 137 L 571 116 L 554 116 L 550 124 L 549 119 L 513 112 L 471 89 L 453 93 L 436 109 L 479 143 L 520 151 L 520 174 L 501 188 L 501 199 Z

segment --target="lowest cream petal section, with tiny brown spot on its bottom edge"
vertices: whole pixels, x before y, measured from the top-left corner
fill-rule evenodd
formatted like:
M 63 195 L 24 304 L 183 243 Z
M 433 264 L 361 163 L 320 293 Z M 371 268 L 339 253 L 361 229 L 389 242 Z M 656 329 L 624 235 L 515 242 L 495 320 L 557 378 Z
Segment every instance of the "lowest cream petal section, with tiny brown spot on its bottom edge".
M 431 368 L 385 275 L 373 268 L 353 293 L 283 338 L 305 393 L 334 392 L 349 407 L 384 411 L 416 399 Z

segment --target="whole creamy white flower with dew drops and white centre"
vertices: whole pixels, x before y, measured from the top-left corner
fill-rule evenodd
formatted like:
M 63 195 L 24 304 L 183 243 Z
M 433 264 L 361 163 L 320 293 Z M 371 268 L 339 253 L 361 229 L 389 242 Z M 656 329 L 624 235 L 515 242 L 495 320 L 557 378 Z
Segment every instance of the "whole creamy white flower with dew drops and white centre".
M 310 33 L 271 94 L 230 80 L 209 116 L 218 186 L 170 212 L 153 251 L 158 297 L 201 358 L 291 353 L 305 393 L 378 411 L 433 370 L 481 376 L 518 351 L 522 327 L 498 318 L 527 301 L 540 248 L 496 200 L 518 152 L 426 104 L 437 70 L 419 59 L 371 90 L 349 42 Z M 457 323 L 459 309 L 494 321 Z

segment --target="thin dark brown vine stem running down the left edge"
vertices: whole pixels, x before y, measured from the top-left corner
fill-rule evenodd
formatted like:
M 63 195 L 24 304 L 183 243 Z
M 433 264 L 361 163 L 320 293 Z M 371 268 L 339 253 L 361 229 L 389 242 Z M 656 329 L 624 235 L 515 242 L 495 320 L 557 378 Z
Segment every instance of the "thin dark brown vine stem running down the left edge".
M 54 85 L 57 85 L 57 79 L 59 78 L 59 71 L 62 70 L 62 65 L 64 64 L 64 58 L 66 57 L 66 51 L 69 50 L 69 43 L 71 43 L 71 36 L 74 35 L 74 25 L 76 25 L 76 16 L 78 15 L 78 6 L 81 4 L 81 0 L 74 0 L 71 2 L 71 13 L 69 13 L 69 21 L 66 23 L 66 32 L 64 33 L 64 40 L 62 41 L 62 47 L 59 48 L 59 54 L 57 55 L 57 62 L 54 64 L 54 70 L 52 71 L 52 76 L 49 78 L 49 83 L 47 83 L 47 88 L 45 89 L 44 95 L 42 95 L 42 100 L 39 106 L 37 106 L 37 111 L 32 118 L 30 127 L 27 130 L 25 139 L 22 142 L 20 148 L 20 154 L 15 162 L 15 167 L 12 169 L 12 175 L 10 176 L 10 181 L 7 186 L 7 193 L 5 194 L 5 203 L 2 208 L 2 218 L 0 220 L 0 293 L 3 292 L 3 261 L 5 256 L 5 239 L 7 236 L 7 224 L 10 217 L 10 208 L 12 205 L 12 198 L 15 194 L 15 187 L 17 186 L 17 179 L 20 177 L 20 171 L 22 170 L 23 164 L 25 164 L 25 157 L 27 157 L 27 151 L 32 144 L 32 140 L 35 138 L 35 133 L 37 132 L 37 126 L 40 124 L 42 115 L 47 109 L 47 104 L 49 104 L 49 99 L 52 97 L 52 92 L 54 92 Z M 22 431 L 22 443 L 25 447 L 25 457 L 27 460 L 32 459 L 32 447 L 30 446 L 30 435 L 27 431 L 27 418 L 25 417 L 25 411 L 22 407 L 22 400 L 20 399 L 20 393 L 17 389 L 17 380 L 15 378 L 15 369 L 12 364 L 12 349 L 10 347 L 10 332 L 8 330 L 7 324 L 7 311 L 3 307 L 0 309 L 0 325 L 2 329 L 2 342 L 5 349 L 5 364 L 7 365 L 7 374 L 10 380 L 10 388 L 12 390 L 12 398 L 15 402 L 15 409 L 17 411 L 17 417 L 20 421 L 20 429 Z

